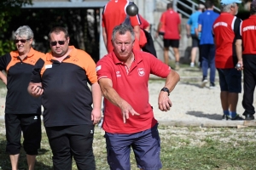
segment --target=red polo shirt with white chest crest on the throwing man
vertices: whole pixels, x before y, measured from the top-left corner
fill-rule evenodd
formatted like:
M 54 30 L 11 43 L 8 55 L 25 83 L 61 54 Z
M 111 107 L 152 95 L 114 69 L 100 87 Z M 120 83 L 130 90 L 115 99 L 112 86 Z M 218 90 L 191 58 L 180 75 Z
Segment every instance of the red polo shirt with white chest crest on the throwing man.
M 148 103 L 148 79 L 150 74 L 166 78 L 171 69 L 154 55 L 134 50 L 135 60 L 130 71 L 112 52 L 97 62 L 97 77 L 109 78 L 113 88 L 140 116 L 129 116 L 126 123 L 119 107 L 104 99 L 104 121 L 102 128 L 108 133 L 137 133 L 154 127 L 157 122 Z

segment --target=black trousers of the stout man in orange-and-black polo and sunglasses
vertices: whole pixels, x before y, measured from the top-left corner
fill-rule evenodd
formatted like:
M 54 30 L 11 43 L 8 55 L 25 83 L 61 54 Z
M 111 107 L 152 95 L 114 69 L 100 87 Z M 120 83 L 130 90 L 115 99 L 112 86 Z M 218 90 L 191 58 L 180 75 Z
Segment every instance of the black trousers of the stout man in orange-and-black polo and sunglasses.
M 73 158 L 79 170 L 96 169 L 92 150 L 93 125 L 45 127 L 45 129 L 53 153 L 55 170 L 72 170 Z

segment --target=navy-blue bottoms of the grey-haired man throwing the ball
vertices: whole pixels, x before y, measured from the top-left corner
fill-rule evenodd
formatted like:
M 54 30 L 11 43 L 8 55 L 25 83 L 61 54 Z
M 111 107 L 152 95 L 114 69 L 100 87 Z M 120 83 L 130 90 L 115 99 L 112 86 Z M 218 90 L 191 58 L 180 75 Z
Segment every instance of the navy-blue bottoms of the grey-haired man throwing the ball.
M 120 134 L 105 133 L 108 165 L 111 170 L 130 170 L 131 148 L 133 149 L 137 167 L 144 170 L 159 170 L 160 161 L 160 136 L 154 127 L 139 133 Z

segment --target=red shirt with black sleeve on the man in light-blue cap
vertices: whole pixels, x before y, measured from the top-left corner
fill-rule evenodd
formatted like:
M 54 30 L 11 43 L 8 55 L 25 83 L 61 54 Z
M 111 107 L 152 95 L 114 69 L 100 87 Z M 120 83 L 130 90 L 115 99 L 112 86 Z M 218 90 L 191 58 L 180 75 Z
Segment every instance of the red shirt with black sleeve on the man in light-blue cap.
M 215 65 L 219 69 L 234 68 L 237 63 L 236 39 L 241 39 L 241 20 L 232 14 L 222 13 L 214 21 L 212 33 L 216 45 Z

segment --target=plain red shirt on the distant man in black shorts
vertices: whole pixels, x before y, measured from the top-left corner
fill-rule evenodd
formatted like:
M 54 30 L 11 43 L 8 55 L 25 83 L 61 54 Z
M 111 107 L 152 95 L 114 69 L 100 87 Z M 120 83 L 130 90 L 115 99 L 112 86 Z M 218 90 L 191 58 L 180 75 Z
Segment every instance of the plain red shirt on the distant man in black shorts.
M 177 12 L 172 9 L 166 10 L 161 15 L 160 22 L 165 28 L 165 39 L 179 39 L 178 25 L 180 25 L 181 20 Z

